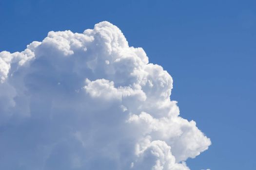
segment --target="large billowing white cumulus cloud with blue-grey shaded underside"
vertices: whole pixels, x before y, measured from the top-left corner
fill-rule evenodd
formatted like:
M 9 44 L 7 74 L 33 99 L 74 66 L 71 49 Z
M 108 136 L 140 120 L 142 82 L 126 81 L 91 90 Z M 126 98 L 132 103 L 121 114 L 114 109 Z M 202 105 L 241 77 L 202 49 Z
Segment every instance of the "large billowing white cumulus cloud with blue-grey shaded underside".
M 170 100 L 173 79 L 100 22 L 0 52 L 1 170 L 189 170 L 211 141 Z

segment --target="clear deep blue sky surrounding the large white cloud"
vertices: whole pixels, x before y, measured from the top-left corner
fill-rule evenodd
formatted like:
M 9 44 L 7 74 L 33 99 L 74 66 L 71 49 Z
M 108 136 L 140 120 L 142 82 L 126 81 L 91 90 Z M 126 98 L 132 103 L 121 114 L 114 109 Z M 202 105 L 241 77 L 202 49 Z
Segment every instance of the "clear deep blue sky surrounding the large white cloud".
M 192 170 L 256 169 L 255 0 L 1 0 L 0 51 L 103 20 L 172 75 L 181 117 L 211 138 Z

